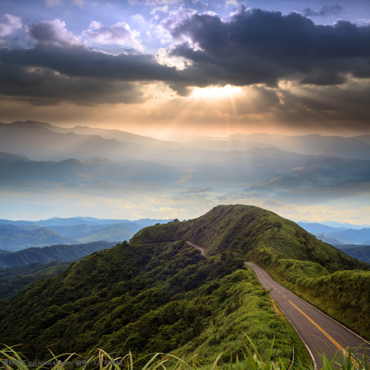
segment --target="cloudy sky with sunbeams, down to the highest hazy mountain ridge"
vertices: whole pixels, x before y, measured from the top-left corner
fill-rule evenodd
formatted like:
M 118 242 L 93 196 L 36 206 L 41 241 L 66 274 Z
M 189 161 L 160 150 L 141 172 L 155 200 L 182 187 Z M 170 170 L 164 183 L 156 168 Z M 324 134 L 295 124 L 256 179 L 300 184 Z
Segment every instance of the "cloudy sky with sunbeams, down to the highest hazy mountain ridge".
M 1 0 L 2 122 L 368 133 L 367 0 Z

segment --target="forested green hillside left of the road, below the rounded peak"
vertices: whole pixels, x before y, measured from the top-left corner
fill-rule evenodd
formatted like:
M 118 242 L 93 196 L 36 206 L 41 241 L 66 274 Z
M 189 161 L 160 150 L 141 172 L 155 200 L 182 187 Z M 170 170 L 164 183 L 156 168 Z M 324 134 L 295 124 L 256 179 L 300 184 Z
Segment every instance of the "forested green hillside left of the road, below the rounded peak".
M 38 281 L 0 306 L 0 342 L 32 359 L 104 348 L 134 356 L 152 351 L 199 353 L 211 361 L 242 355 L 244 330 L 266 356 L 289 363 L 292 328 L 276 319 L 269 296 L 239 254 L 205 258 L 184 240 L 118 244 Z M 301 348 L 303 361 L 309 358 Z M 300 347 L 301 346 L 301 347 Z M 186 352 L 185 352 L 186 351 Z

